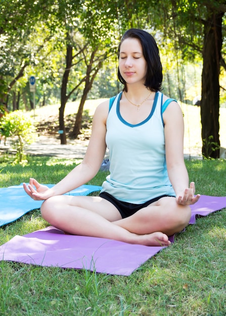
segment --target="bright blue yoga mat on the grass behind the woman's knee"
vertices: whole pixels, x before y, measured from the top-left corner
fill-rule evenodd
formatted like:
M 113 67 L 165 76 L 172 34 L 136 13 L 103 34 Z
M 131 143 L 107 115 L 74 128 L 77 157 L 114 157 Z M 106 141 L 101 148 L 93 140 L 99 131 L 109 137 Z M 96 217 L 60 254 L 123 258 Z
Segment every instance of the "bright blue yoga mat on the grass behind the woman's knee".
M 54 184 L 47 184 L 49 188 Z M 66 193 L 67 195 L 88 195 L 101 190 L 101 186 L 82 185 Z M 43 201 L 34 201 L 24 191 L 23 183 L 20 185 L 0 188 L 0 226 L 12 223 L 30 210 L 40 208 Z

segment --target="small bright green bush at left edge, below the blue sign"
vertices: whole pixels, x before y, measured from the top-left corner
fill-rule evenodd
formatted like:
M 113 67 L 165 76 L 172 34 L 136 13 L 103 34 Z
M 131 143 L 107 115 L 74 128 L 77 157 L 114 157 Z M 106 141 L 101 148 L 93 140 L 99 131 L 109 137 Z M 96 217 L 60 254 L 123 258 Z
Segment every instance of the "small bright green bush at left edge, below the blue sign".
M 7 113 L 0 123 L 1 134 L 12 138 L 12 145 L 17 150 L 16 160 L 22 162 L 25 144 L 31 144 L 34 140 L 35 128 L 31 119 L 22 111 Z

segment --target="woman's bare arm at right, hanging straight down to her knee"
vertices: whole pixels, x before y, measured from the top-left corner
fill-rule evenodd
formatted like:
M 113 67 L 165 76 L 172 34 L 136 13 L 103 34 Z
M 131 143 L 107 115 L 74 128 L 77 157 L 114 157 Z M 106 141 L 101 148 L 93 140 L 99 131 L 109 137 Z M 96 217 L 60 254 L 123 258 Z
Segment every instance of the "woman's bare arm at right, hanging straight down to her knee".
M 189 176 L 184 162 L 184 120 L 176 102 L 171 102 L 163 113 L 165 123 L 166 164 L 169 180 L 179 204 L 189 205 L 198 201 L 195 183 L 189 185 Z

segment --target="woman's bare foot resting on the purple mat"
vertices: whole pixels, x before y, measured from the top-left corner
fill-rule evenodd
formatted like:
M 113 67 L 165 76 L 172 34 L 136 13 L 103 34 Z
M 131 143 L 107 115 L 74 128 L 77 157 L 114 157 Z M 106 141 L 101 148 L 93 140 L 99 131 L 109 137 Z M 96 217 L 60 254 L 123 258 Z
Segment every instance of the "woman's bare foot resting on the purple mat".
M 138 238 L 140 239 L 138 243 L 145 246 L 165 247 L 169 246 L 171 243 L 168 239 L 168 236 L 162 232 L 154 232 L 152 234 L 137 236 L 139 236 Z

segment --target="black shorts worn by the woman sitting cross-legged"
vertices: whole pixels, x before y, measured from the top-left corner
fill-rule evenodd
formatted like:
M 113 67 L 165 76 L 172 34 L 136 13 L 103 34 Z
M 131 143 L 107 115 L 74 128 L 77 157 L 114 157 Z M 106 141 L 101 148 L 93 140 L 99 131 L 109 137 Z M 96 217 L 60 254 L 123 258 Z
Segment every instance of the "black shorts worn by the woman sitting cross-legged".
M 138 212 L 139 209 L 144 208 L 155 201 L 158 201 L 160 198 L 169 196 L 169 195 L 161 195 L 161 196 L 152 198 L 151 200 L 142 204 L 133 204 L 133 203 L 119 201 L 117 200 L 117 198 L 115 198 L 114 196 L 112 196 L 111 194 L 107 192 L 101 192 L 99 195 L 100 197 L 111 202 L 118 209 L 123 219 L 135 214 L 136 212 Z

